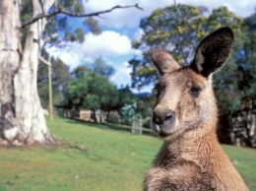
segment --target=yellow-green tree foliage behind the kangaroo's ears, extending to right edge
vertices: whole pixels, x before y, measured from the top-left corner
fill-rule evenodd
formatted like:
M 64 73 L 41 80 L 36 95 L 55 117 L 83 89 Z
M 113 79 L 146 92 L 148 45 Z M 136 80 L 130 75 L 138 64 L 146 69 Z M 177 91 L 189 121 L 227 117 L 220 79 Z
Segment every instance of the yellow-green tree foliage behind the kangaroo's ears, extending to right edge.
M 172 5 L 157 9 L 141 21 L 144 34 L 133 41 L 133 47 L 143 51 L 143 57 L 129 61 L 133 69 L 133 87 L 141 88 L 155 82 L 158 73 L 150 60 L 150 50 L 163 48 L 182 65 L 188 64 L 196 45 L 206 34 L 221 27 L 230 27 L 235 40 L 232 54 L 221 72 L 215 75 L 214 88 L 221 112 L 240 107 L 240 99 L 255 95 L 255 14 L 243 20 L 226 7 L 205 16 L 206 8 Z

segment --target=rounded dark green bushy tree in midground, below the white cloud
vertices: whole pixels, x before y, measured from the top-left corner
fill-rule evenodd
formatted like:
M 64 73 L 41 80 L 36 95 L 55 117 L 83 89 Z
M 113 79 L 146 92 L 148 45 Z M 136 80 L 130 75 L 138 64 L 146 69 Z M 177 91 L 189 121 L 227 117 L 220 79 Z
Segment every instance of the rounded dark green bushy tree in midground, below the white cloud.
M 81 69 L 81 67 L 79 67 Z M 75 69 L 77 72 L 78 69 Z M 97 109 L 109 111 L 118 101 L 118 92 L 106 77 L 89 70 L 84 74 L 75 76 L 67 85 L 63 106 L 69 108 L 73 115 L 80 109 Z

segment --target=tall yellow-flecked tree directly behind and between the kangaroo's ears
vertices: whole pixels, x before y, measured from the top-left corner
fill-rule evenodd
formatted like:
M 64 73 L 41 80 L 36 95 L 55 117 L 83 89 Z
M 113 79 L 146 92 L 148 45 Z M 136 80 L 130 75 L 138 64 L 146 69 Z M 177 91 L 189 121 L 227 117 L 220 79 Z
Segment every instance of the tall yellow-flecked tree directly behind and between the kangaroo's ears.
M 179 64 L 188 64 L 198 39 L 204 36 L 203 13 L 206 8 L 188 5 L 171 5 L 155 10 L 148 18 L 142 19 L 140 28 L 143 36 L 132 45 L 143 51 L 143 58 L 129 61 L 133 71 L 132 86 L 140 87 L 155 82 L 158 72 L 150 60 L 149 52 L 162 48 L 171 52 Z

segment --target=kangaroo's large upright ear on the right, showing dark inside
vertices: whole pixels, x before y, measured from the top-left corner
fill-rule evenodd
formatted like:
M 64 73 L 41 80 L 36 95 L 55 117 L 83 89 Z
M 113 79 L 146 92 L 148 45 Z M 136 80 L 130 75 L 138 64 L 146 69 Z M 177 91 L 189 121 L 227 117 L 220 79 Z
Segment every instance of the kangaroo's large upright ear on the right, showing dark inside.
M 222 28 L 206 36 L 198 45 L 190 67 L 204 77 L 209 77 L 224 66 L 233 43 L 233 32 Z

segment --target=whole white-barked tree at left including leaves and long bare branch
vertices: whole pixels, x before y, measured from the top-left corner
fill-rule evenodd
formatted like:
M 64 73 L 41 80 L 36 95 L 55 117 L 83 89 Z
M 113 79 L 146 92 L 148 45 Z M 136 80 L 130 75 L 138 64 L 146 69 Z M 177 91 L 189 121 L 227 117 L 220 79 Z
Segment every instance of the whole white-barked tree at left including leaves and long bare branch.
M 21 17 L 20 8 L 23 5 L 26 5 L 23 11 L 28 12 Z M 16 0 L 3 0 L 0 6 L 0 67 L 1 74 L 3 73 L 0 82 L 0 141 L 3 144 L 16 145 L 54 144 L 55 140 L 41 111 L 36 85 L 38 55 L 43 48 L 43 41 L 59 42 L 57 35 L 52 32 L 65 31 L 64 28 L 61 29 L 65 25 L 60 24 L 67 24 L 66 16 L 90 18 L 118 8 L 139 6 L 115 6 L 92 14 L 84 14 L 82 2 L 79 0 L 25 0 L 22 5 Z M 94 27 L 92 19 L 87 24 Z M 97 32 L 95 27 L 94 29 Z M 80 29 L 65 31 L 64 39 L 82 41 L 82 34 Z

